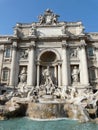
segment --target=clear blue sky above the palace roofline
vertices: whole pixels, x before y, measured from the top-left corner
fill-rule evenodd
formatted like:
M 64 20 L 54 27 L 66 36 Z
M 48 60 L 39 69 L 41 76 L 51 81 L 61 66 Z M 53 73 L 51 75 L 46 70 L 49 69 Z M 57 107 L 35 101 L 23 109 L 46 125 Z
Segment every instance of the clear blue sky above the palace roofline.
M 47 8 L 59 21 L 82 21 L 85 32 L 98 32 L 98 0 L 0 0 L 0 35 L 12 34 L 17 22 L 37 22 Z

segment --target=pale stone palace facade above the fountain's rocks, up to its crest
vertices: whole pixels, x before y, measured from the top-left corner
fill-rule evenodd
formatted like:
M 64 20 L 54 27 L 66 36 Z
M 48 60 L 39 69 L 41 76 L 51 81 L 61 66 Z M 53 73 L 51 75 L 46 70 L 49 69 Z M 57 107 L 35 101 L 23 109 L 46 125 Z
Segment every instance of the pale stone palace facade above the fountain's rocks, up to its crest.
M 38 22 L 17 23 L 12 36 L 0 36 L 2 90 L 98 88 L 98 33 L 85 33 L 81 21 L 58 18 L 47 9 Z

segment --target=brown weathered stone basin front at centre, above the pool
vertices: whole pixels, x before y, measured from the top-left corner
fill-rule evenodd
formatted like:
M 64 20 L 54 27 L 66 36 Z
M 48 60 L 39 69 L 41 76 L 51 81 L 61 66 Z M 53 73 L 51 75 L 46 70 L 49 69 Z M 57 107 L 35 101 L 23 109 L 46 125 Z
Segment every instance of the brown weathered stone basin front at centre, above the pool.
M 50 119 L 66 117 L 65 103 L 29 103 L 27 116 L 30 118 Z

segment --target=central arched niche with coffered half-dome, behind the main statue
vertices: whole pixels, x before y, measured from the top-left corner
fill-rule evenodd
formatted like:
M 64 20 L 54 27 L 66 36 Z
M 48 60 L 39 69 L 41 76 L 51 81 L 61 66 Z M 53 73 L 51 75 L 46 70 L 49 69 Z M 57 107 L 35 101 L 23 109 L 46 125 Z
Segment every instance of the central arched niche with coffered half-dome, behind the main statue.
M 52 48 L 44 49 L 40 52 L 37 58 L 37 86 L 41 84 L 42 74 L 46 68 L 49 68 L 53 82 L 58 84 L 60 77 L 60 54 L 57 50 Z M 60 80 L 59 80 L 60 81 Z

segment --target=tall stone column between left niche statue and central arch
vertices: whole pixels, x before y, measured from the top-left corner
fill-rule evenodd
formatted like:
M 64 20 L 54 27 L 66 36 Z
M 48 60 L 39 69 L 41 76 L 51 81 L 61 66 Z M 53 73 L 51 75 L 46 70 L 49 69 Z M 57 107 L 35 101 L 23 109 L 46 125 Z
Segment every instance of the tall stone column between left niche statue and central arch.
M 29 63 L 28 63 L 28 76 L 27 76 L 27 85 L 34 86 L 35 85 L 35 60 L 34 60 L 34 48 L 35 43 L 32 42 L 29 48 Z

